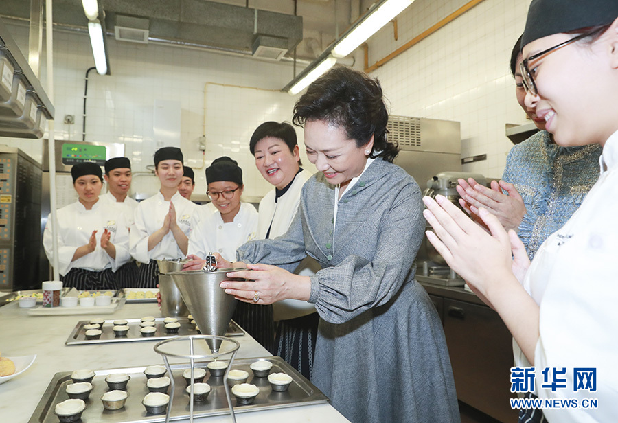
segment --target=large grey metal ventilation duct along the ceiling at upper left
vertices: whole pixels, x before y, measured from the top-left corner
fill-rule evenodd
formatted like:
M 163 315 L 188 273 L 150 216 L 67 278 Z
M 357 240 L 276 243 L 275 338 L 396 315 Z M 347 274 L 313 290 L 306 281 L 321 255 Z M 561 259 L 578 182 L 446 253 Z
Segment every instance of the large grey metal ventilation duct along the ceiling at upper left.
M 2 3 L 2 16 L 29 19 L 29 1 Z M 303 38 L 301 16 L 207 0 L 105 0 L 103 10 L 108 32 L 115 34 L 118 26 L 119 39 L 133 42 L 158 41 L 277 60 Z M 81 0 L 54 0 L 56 27 L 85 32 L 87 23 Z

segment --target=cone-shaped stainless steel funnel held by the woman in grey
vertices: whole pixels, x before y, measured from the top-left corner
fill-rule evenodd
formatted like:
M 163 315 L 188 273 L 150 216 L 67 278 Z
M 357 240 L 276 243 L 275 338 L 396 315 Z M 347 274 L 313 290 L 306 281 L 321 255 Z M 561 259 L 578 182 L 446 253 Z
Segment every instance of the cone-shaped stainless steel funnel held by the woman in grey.
M 245 270 L 242 268 L 223 268 L 212 272 L 186 271 L 167 273 L 179 288 L 185 304 L 193 315 L 200 332 L 205 335 L 224 336 L 229 321 L 236 308 L 233 295 L 228 295 L 219 284 L 230 279 L 227 272 Z M 207 339 L 212 352 L 218 352 L 221 341 Z

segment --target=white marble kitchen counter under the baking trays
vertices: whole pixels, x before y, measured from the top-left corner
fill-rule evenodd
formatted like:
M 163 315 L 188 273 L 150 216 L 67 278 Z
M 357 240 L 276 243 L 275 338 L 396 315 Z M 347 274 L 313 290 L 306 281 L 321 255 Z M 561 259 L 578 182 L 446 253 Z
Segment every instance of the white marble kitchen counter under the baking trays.
M 81 320 L 135 319 L 161 316 L 155 303 L 125 304 L 111 315 L 69 315 L 31 317 L 16 302 L 0 307 L 0 351 L 3 356 L 36 354 L 30 369 L 0 385 L 2 422 L 21 423 L 30 420 L 47 385 L 59 371 L 76 369 L 114 369 L 163 364 L 154 350 L 157 341 L 65 345 L 73 328 Z M 236 358 L 270 356 L 249 335 L 235 336 L 240 342 Z M 176 361 L 177 363 L 178 361 Z M 173 362 L 172 362 L 173 363 Z M 181 421 L 181 420 L 176 420 Z M 188 422 L 189 420 L 182 420 Z M 262 422 L 347 422 L 330 404 L 315 404 L 288 409 L 275 409 L 236 414 L 239 423 Z M 194 419 L 194 422 L 231 422 L 229 415 Z

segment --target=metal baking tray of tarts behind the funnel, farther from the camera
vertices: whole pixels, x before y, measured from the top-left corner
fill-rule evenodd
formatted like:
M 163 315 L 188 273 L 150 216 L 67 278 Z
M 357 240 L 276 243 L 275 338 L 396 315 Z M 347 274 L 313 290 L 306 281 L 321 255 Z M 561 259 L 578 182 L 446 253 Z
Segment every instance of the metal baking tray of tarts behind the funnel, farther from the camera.
M 195 325 L 189 323 L 189 319 L 178 319 L 178 323 L 181 324 L 177 334 L 168 334 L 165 332 L 165 323 L 163 323 L 163 317 L 157 317 L 155 319 L 155 328 L 157 331 L 154 336 L 141 336 L 139 332 L 141 319 L 124 319 L 127 321 L 129 327 L 126 336 L 116 336 L 113 331 L 113 322 L 117 319 L 106 319 L 102 326 L 102 334 L 100 339 L 86 339 L 86 330 L 84 325 L 90 323 L 89 320 L 79 321 L 73 328 L 73 331 L 67 338 L 65 345 L 90 345 L 93 343 L 110 343 L 110 342 L 136 342 L 136 341 L 161 341 L 161 339 L 173 338 L 174 336 L 196 335 L 198 331 L 195 329 Z M 244 331 L 240 328 L 235 321 L 229 322 L 229 327 L 225 336 L 242 336 Z

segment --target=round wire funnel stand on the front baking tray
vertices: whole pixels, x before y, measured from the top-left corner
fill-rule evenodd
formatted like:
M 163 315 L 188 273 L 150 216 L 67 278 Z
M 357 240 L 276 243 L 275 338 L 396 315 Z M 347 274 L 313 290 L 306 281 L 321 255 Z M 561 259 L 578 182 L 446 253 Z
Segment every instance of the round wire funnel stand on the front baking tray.
M 214 352 L 213 354 L 205 354 L 205 355 L 196 355 L 194 354 L 194 344 L 193 341 L 195 339 L 204 339 L 206 341 L 218 341 L 218 343 L 222 343 L 223 341 L 228 341 L 234 344 L 234 346 L 229 351 L 224 352 Z M 166 343 L 177 342 L 177 341 L 189 341 L 189 355 L 183 354 L 174 354 L 171 352 L 164 352 L 161 348 Z M 238 352 L 238 348 L 240 348 L 240 343 L 234 339 L 226 338 L 225 336 L 214 336 L 214 335 L 189 335 L 189 336 L 175 336 L 174 338 L 164 339 L 163 341 L 157 343 L 155 345 L 155 352 L 161 354 L 163 357 L 163 362 L 165 363 L 165 369 L 168 370 L 168 374 L 172 376 L 172 367 L 170 367 L 170 363 L 168 361 L 168 357 L 174 358 L 184 358 L 188 359 L 191 363 L 191 384 L 190 384 L 190 398 L 189 398 L 189 422 L 193 423 L 193 391 L 194 391 L 194 371 L 195 371 L 195 361 L 196 360 L 205 360 L 208 358 L 218 358 L 218 356 L 225 356 L 227 354 L 231 354 L 229 359 L 229 365 L 227 369 L 225 369 L 225 375 L 223 376 L 227 380 L 227 375 L 229 374 L 229 369 L 232 367 L 232 363 L 234 362 L 234 358 L 236 358 L 236 352 Z M 172 412 L 172 401 L 174 400 L 174 389 L 176 388 L 176 384 L 174 382 L 174 378 L 171 377 L 171 385 L 172 392 L 170 393 L 170 404 L 168 404 L 168 412 L 165 414 L 165 423 L 170 422 L 170 413 Z M 231 415 L 231 420 L 233 423 L 236 423 L 236 415 L 234 415 L 234 409 L 231 404 L 231 399 L 229 396 L 229 385 L 225 384 L 225 397 L 227 398 L 227 405 L 229 407 L 229 413 Z

